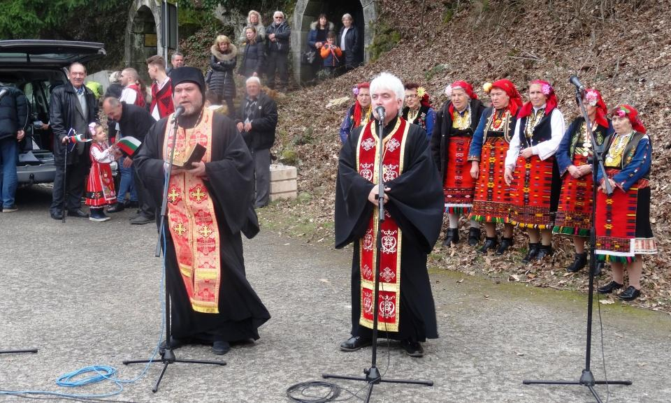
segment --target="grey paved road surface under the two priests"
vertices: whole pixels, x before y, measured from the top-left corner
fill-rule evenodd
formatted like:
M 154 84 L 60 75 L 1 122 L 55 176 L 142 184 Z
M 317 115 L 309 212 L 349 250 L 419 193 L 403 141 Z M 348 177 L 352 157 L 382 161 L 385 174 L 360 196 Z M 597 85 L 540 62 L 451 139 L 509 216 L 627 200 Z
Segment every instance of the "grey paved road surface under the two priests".
M 159 338 L 161 265 L 155 229 L 130 226 L 129 212 L 102 224 L 48 216 L 48 189 L 20 191 L 20 211 L 0 214 L 0 348 L 39 353 L 0 355 L 0 388 L 61 390 L 55 379 L 87 365 L 140 374 L 122 360 L 145 358 Z M 115 397 L 132 402 L 288 402 L 284 391 L 322 372 L 361 374 L 370 349 L 341 353 L 349 328 L 349 251 L 306 246 L 262 232 L 245 242 L 247 274 L 273 315 L 253 346 L 236 346 L 226 367 L 171 365 L 159 393 L 160 365 Z M 580 386 L 523 386 L 522 379 L 578 379 L 584 367 L 584 295 L 542 290 L 454 272 L 432 274 L 440 339 L 426 356 L 403 356 L 383 343 L 379 366 L 390 378 L 431 379 L 435 386 L 375 386 L 373 402 L 593 402 Z M 461 279 L 463 278 L 463 281 Z M 461 281 L 461 282 L 460 282 Z M 609 402 L 671 401 L 668 314 L 605 305 L 604 350 Z M 598 316 L 592 369 L 604 378 Z M 216 359 L 187 346 L 179 358 Z M 338 381 L 349 390 L 361 383 Z M 101 393 L 107 383 L 65 390 Z M 606 389 L 598 390 L 606 399 Z M 344 396 L 344 395 L 343 395 Z M 26 401 L 0 396 L 0 403 Z M 64 402 L 66 400 L 63 400 Z M 352 402 L 356 399 L 351 400 Z

